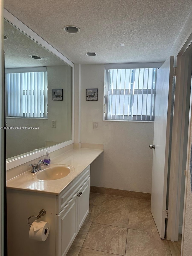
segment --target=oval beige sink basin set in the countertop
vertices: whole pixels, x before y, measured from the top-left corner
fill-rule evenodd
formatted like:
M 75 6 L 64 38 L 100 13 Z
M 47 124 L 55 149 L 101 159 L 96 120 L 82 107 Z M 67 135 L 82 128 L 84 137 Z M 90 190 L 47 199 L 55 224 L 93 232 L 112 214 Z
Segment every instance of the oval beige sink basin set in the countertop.
M 37 173 L 36 177 L 41 180 L 61 179 L 69 175 L 69 173 L 74 170 L 74 167 L 70 165 L 52 164 Z

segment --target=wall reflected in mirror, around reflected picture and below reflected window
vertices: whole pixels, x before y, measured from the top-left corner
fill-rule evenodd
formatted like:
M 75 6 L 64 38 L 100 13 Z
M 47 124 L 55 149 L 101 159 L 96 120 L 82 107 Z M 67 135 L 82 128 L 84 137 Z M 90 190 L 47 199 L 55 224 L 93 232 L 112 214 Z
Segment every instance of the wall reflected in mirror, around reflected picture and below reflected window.
M 47 67 L 48 119 L 10 119 L 7 126 L 39 126 L 39 129 L 7 129 L 7 158 L 71 139 L 71 71 L 70 67 Z M 63 89 L 63 101 L 52 101 L 52 89 Z M 56 121 L 56 128 L 51 121 Z

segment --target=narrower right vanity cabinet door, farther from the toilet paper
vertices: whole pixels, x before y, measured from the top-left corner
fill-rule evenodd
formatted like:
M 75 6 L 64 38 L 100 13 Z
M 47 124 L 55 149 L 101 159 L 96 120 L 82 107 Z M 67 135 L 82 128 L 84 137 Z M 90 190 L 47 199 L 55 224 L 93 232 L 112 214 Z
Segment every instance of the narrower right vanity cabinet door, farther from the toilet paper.
M 79 232 L 89 212 L 89 189 L 90 178 L 88 178 L 78 191 L 81 195 L 78 197 L 77 232 Z

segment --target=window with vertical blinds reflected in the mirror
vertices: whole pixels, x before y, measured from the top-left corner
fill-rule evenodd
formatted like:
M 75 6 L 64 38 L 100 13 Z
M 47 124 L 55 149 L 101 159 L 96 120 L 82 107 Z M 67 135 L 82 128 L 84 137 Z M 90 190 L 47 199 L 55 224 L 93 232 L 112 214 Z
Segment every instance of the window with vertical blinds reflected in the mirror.
M 47 117 L 47 68 L 5 69 L 6 116 Z

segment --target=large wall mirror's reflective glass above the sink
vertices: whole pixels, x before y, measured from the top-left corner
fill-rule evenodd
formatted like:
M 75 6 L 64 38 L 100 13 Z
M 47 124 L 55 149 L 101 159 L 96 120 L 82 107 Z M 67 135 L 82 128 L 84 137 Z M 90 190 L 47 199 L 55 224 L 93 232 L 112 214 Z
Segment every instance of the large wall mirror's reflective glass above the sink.
M 71 67 L 6 20 L 4 54 L 7 160 L 71 140 Z

